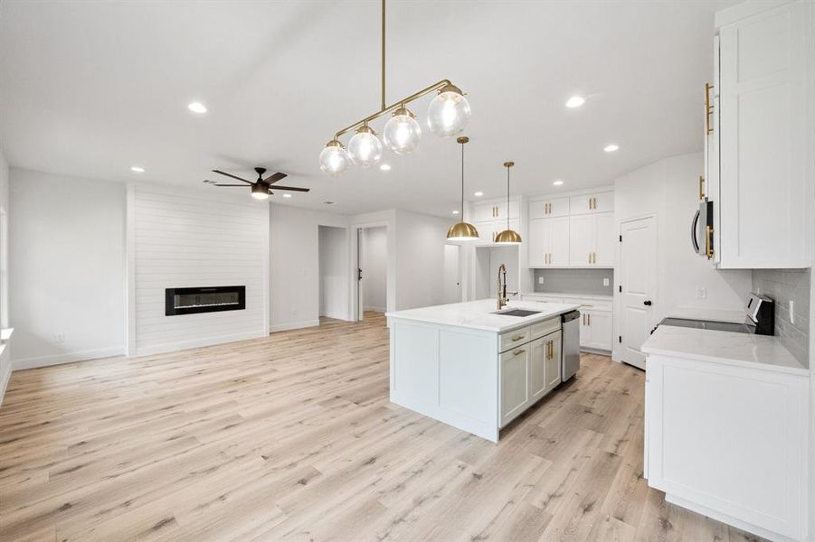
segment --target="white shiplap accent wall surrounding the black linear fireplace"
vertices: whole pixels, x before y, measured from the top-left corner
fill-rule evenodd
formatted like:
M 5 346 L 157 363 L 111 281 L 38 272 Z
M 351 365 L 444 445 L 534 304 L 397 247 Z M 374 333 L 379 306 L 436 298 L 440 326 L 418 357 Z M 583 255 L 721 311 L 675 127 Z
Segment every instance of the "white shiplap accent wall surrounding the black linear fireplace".
M 225 192 L 128 186 L 128 355 L 269 332 L 269 205 Z M 165 316 L 165 288 L 246 286 L 246 309 Z

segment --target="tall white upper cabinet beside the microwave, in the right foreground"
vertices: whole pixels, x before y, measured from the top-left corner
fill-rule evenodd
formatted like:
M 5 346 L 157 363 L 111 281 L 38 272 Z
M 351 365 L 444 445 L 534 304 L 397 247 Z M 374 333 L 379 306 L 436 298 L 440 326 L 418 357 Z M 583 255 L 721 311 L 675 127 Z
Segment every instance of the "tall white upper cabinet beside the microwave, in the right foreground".
M 716 14 L 721 231 L 715 250 L 721 267 L 806 267 L 815 173 L 809 73 L 815 3 L 760 9 L 734 5 Z

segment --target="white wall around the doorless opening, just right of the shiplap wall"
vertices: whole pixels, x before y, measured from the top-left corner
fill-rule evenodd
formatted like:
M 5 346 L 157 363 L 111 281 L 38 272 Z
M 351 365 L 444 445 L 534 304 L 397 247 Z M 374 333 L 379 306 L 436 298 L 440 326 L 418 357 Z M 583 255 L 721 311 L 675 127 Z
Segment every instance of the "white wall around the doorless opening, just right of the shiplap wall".
M 274 203 L 269 212 L 270 331 L 319 325 L 318 228 L 346 228 L 348 218 Z

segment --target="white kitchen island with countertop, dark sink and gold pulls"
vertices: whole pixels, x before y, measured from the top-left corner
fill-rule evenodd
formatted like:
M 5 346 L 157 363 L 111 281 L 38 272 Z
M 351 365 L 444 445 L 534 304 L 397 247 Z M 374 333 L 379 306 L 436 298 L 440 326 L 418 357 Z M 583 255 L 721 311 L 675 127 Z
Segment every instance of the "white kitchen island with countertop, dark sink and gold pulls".
M 386 313 L 391 401 L 498 442 L 561 382 L 561 315 L 576 304 L 495 299 Z M 509 315 L 516 309 L 534 313 Z

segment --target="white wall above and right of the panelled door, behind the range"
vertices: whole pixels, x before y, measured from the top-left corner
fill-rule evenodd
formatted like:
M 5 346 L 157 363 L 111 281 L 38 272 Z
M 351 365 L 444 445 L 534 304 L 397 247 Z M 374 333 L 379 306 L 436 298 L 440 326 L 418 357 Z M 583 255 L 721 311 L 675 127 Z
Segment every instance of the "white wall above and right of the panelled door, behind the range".
M 717 270 L 691 248 L 690 222 L 698 209 L 698 178 L 703 171 L 701 153 L 683 154 L 649 164 L 614 182 L 614 218 L 619 232 L 623 220 L 653 215 L 657 218 L 657 299 L 654 319 L 659 322 L 674 307 L 740 310 L 753 285 L 745 269 Z M 615 273 L 615 281 L 619 280 Z M 615 290 L 617 285 L 615 284 Z M 697 288 L 706 299 L 697 299 Z M 620 319 L 615 309 L 615 335 Z M 614 343 L 615 347 L 617 342 Z M 617 358 L 615 352 L 615 359 Z

